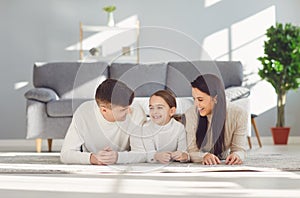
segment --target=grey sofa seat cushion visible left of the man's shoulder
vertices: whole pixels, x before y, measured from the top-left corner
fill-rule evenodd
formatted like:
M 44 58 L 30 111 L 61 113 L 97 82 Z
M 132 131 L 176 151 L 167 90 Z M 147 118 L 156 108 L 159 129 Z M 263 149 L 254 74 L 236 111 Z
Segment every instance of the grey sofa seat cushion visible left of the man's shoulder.
M 61 99 L 47 103 L 47 114 L 50 117 L 72 117 L 73 113 L 83 102 L 90 99 Z

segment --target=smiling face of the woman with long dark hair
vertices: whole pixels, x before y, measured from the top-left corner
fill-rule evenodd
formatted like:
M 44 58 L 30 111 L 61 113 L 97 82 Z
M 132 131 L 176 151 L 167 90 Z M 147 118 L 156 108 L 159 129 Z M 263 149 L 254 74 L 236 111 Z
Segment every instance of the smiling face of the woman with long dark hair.
M 213 98 L 194 87 L 192 88 L 192 96 L 194 98 L 194 105 L 198 108 L 201 116 L 207 116 L 212 113 L 217 96 Z

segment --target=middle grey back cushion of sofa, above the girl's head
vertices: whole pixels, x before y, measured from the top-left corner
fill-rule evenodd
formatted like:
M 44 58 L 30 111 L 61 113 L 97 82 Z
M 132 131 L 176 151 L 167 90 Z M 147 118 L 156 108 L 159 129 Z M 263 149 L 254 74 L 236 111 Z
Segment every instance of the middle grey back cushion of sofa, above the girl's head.
M 113 63 L 110 78 L 124 82 L 137 97 L 148 97 L 155 91 L 165 89 L 167 65 Z

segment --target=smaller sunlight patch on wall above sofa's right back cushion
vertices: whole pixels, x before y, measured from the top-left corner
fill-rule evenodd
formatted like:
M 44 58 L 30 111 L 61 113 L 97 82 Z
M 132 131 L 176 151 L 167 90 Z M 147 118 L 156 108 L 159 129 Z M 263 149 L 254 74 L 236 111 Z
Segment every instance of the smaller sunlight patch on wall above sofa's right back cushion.
M 228 29 L 223 29 L 221 31 L 215 32 L 203 41 L 203 48 L 208 52 L 211 59 L 228 60 L 229 51 L 229 33 Z

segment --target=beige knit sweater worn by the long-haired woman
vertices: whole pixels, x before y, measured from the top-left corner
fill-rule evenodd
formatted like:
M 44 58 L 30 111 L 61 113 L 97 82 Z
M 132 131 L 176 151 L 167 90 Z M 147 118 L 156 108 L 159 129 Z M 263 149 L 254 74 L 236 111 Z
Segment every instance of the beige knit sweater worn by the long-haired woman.
M 202 162 L 203 156 L 206 154 L 197 147 L 196 130 L 198 126 L 198 111 L 196 107 L 191 107 L 185 113 L 186 116 L 186 133 L 188 152 L 192 162 Z M 236 153 L 241 159 L 245 158 L 246 134 L 249 115 L 241 107 L 229 103 L 227 105 L 226 121 L 225 121 L 225 151 L 222 159 L 228 154 Z

